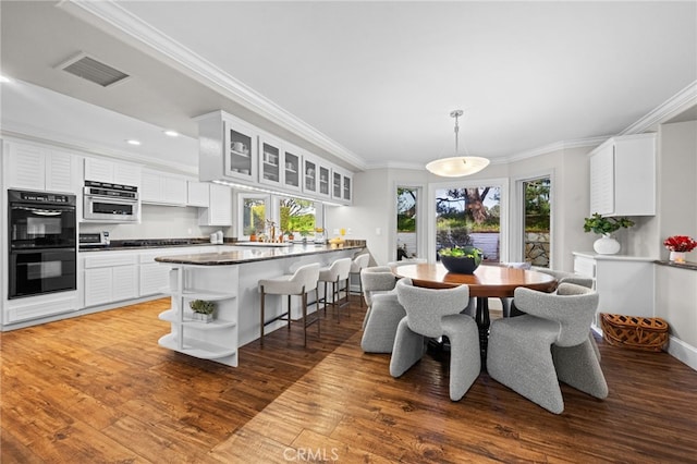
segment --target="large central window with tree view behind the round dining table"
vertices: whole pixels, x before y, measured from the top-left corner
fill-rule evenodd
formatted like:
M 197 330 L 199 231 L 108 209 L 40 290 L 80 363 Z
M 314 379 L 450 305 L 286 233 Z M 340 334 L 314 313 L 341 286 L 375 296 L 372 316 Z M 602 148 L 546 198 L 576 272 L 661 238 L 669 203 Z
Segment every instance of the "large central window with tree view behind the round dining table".
M 486 261 L 501 258 L 500 185 L 443 185 L 433 191 L 436 208 L 436 259 L 440 248 L 472 245 Z

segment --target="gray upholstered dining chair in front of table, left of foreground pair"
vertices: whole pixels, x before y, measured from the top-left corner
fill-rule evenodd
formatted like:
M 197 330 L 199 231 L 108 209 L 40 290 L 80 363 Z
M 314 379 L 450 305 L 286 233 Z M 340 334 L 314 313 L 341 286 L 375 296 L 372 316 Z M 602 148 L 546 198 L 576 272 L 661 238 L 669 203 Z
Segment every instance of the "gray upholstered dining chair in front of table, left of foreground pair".
M 461 312 L 469 303 L 469 288 L 424 289 L 406 279 L 396 283 L 398 300 L 406 312 L 400 321 L 390 359 L 390 374 L 400 377 L 425 353 L 425 339 L 450 340 L 450 399 L 458 401 L 481 369 L 475 320 Z

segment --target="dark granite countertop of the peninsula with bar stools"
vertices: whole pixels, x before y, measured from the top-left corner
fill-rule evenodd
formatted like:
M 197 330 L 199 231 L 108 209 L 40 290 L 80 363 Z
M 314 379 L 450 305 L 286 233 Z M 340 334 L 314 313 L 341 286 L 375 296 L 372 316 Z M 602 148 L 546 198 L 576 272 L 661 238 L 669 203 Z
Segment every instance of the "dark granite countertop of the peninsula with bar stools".
M 231 244 L 234 245 L 234 244 Z M 175 265 L 192 265 L 192 266 L 229 266 L 240 265 L 244 262 L 265 261 L 270 259 L 288 258 L 293 256 L 304 255 L 318 255 L 321 253 L 332 253 L 342 249 L 362 249 L 364 245 L 346 244 L 341 248 L 332 248 L 331 245 L 315 245 L 315 244 L 294 244 L 293 246 L 256 246 L 244 247 L 240 246 L 240 249 L 221 251 L 217 253 L 199 253 L 191 255 L 173 255 L 173 256 L 159 256 L 155 260 L 158 262 L 169 262 Z

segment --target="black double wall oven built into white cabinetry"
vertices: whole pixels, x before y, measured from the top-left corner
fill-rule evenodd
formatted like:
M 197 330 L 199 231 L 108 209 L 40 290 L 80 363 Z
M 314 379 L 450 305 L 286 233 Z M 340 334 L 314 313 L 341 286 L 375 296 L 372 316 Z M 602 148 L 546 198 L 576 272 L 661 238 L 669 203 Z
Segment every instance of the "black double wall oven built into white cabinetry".
M 8 191 L 8 298 L 77 289 L 75 195 Z

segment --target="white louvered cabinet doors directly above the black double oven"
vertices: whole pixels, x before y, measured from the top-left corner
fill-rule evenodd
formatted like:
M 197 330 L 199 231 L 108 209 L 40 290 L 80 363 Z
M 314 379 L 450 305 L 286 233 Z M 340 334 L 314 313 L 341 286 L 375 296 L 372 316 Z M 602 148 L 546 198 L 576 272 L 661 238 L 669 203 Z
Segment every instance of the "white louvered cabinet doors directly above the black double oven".
M 15 142 L 5 142 L 5 150 L 9 187 L 80 193 L 81 157 L 53 148 Z

